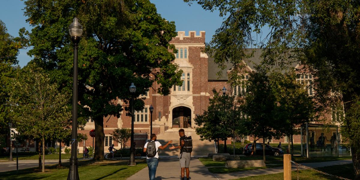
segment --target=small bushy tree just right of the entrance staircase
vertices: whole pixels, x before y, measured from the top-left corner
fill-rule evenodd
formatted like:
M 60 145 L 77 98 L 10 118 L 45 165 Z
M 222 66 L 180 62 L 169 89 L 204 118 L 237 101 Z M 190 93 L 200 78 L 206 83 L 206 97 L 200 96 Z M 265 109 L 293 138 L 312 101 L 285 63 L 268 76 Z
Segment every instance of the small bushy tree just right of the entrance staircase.
M 223 140 L 224 152 L 227 152 L 226 140 L 238 134 L 240 129 L 239 109 L 235 96 L 221 95 L 215 89 L 209 106 L 203 114 L 195 117 L 196 134 L 201 140 Z

